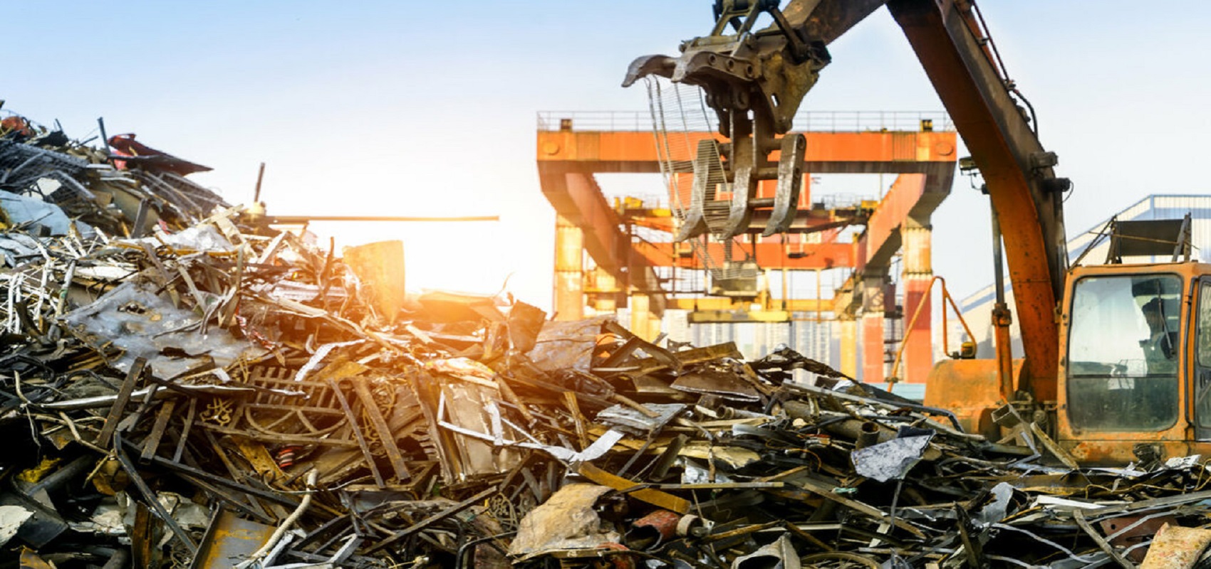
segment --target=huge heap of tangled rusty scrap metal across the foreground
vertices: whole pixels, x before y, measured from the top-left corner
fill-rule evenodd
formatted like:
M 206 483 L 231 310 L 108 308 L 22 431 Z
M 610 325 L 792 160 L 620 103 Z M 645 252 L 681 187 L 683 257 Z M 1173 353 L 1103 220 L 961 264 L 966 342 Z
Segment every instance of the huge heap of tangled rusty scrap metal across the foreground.
M 404 300 L 397 243 L 338 259 L 52 134 L 0 138 L 5 567 L 1192 567 L 1211 541 L 1196 458 L 1075 469 L 788 349 Z

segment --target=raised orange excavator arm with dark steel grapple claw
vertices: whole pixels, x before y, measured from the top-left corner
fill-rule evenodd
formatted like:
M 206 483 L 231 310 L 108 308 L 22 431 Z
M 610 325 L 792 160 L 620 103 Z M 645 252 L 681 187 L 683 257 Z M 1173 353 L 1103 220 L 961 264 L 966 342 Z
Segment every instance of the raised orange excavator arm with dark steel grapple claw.
M 776 0 L 717 0 L 710 35 L 683 42 L 676 58 L 636 59 L 624 86 L 660 75 L 706 92 L 721 133 L 730 139 L 719 149 L 733 190 L 724 234 L 730 237 L 745 230 L 737 223 L 746 223 L 752 209 L 769 205 L 752 199 L 757 180 L 792 184 L 780 176 L 793 172 L 786 166 L 793 156 L 785 151 L 791 137 L 784 135 L 830 63 L 827 45 L 883 5 L 903 29 L 992 198 L 1026 356 L 1028 384 L 1018 388 L 1038 400 L 1055 400 L 1055 314 L 1067 272 L 1062 194 L 1069 184 L 1055 176 L 1056 156 L 1032 129 L 1018 104 L 1025 98 L 998 65 L 971 0 L 791 0 L 782 10 Z M 774 24 L 754 29 L 763 14 Z M 780 147 L 781 163 L 769 159 Z

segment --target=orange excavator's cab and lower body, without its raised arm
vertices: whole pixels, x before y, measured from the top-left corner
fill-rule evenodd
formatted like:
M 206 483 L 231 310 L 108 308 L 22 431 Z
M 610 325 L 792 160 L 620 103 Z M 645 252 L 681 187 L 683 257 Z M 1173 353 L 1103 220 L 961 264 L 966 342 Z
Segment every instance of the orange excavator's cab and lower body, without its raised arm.
M 1010 397 L 997 360 L 974 359 L 939 361 L 925 405 L 993 441 L 1014 439 L 1009 416 L 1035 423 L 1085 465 L 1211 453 L 1211 265 L 1075 267 L 1066 291 L 1056 400 L 1023 388 L 1022 359 Z

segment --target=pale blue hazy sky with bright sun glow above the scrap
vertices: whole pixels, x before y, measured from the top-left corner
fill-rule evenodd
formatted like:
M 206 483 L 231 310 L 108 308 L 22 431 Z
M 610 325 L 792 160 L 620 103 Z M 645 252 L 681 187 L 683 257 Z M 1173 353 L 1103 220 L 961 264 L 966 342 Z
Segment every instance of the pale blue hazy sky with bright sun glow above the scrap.
M 1069 234 L 1148 193 L 1206 192 L 1211 2 L 980 5 L 1075 182 Z M 543 307 L 553 214 L 536 111 L 645 109 L 641 88 L 619 87 L 627 63 L 712 23 L 710 0 L 35 1 L 5 2 L 5 21 L 6 110 L 75 138 L 104 116 L 110 134 L 213 167 L 194 178 L 235 203 L 266 162 L 270 213 L 500 215 L 317 228 L 403 239 L 409 289 L 493 292 L 511 274 L 509 290 Z M 804 109 L 942 110 L 885 11 L 831 52 Z M 958 295 L 991 280 L 988 225 L 987 198 L 957 178 L 934 216 L 934 267 Z

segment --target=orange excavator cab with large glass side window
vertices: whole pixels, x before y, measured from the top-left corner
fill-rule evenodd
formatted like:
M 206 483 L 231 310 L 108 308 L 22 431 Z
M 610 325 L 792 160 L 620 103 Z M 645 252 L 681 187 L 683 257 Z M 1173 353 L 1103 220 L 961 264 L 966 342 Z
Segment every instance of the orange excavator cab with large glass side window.
M 1063 306 L 1061 446 L 1089 464 L 1211 451 L 1211 266 L 1078 267 Z

